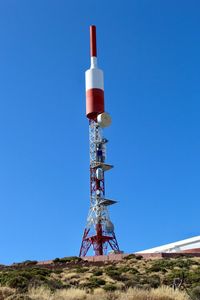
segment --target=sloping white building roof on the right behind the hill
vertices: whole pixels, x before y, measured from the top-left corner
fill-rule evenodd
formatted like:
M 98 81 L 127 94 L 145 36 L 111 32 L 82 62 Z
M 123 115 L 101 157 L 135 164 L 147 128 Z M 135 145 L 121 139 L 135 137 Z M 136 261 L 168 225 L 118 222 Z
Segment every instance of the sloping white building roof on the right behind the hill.
M 139 251 L 137 253 L 164 253 L 164 252 L 171 253 L 171 252 L 180 252 L 183 250 L 190 250 L 190 249 L 195 249 L 195 248 L 200 248 L 200 235 L 186 239 L 186 240 L 182 240 L 182 241 L 166 244 L 163 246 Z

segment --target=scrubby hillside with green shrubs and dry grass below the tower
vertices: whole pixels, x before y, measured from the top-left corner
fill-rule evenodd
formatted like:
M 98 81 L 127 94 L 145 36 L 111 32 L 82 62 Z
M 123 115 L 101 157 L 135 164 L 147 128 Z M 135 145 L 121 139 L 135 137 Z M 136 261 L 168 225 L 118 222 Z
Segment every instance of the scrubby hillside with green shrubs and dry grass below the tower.
M 176 291 L 175 278 L 180 285 Z M 200 258 L 129 255 L 119 262 L 91 263 L 68 257 L 47 265 L 26 261 L 1 266 L 0 285 L 0 300 L 199 300 Z

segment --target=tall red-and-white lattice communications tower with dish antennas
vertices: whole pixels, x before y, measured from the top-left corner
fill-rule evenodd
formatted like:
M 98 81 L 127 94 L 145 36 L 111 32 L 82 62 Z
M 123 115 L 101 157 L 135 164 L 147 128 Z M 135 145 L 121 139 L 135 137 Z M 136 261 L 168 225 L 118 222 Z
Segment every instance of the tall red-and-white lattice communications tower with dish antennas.
M 90 209 L 79 256 L 85 256 L 90 248 L 95 255 L 105 255 L 109 249 L 120 253 L 108 213 L 108 207 L 117 201 L 105 197 L 105 172 L 113 166 L 106 163 L 108 140 L 103 135 L 103 128 L 111 124 L 111 117 L 104 111 L 103 71 L 97 66 L 96 27 L 93 25 L 90 26 L 90 56 L 91 66 L 85 73 L 90 140 Z

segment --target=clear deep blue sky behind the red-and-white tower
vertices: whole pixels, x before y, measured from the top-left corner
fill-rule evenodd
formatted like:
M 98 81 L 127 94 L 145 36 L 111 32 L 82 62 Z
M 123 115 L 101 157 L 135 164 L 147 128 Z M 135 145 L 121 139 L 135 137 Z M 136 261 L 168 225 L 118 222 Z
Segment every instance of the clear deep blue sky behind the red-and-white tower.
M 199 1 L 0 2 L 0 263 L 78 255 L 89 208 L 84 72 L 97 26 L 120 247 L 199 235 Z

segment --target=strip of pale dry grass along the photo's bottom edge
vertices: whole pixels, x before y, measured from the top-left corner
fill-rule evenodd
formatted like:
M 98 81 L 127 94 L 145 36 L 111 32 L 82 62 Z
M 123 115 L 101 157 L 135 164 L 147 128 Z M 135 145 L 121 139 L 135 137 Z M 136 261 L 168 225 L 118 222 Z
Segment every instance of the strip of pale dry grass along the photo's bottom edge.
M 184 292 L 174 291 L 168 287 L 151 289 L 150 291 L 129 289 L 126 292 L 106 293 L 96 289 L 93 294 L 85 290 L 58 290 L 54 294 L 46 288 L 30 289 L 28 296 L 33 300 L 189 300 Z

